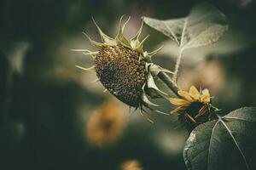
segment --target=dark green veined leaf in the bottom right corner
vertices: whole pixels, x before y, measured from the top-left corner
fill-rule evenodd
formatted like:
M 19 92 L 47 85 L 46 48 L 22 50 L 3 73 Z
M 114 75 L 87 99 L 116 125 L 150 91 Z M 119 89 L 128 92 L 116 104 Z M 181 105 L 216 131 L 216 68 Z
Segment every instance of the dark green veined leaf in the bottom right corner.
M 189 169 L 256 169 L 256 108 L 195 127 L 183 150 Z

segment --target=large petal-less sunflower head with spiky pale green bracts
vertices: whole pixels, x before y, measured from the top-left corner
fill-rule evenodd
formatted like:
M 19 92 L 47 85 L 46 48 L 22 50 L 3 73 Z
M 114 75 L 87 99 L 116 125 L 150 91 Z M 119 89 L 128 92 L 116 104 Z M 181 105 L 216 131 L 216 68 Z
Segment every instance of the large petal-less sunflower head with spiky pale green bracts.
M 110 94 L 113 94 L 126 105 L 136 109 L 139 108 L 140 113 L 143 116 L 147 116 L 148 120 L 150 120 L 145 108 L 157 111 L 152 106 L 158 105 L 152 103 L 148 97 L 155 98 L 167 95 L 157 87 L 154 77 L 160 71 L 168 73 L 172 73 L 172 71 L 152 63 L 152 56 L 157 54 L 161 48 L 153 52 L 143 51 L 143 43 L 148 38 L 147 36 L 142 41 L 139 41 L 143 30 L 143 23 L 136 36 L 128 40 L 123 33 L 130 17 L 124 24 L 122 24 L 122 20 L 123 16 L 119 20 L 119 31 L 115 38 L 108 37 L 103 33 L 102 29 L 97 26 L 96 21 L 93 20 L 102 42 L 93 41 L 83 32 L 98 51 L 91 52 L 87 49 L 73 49 L 73 51 L 89 54 L 94 59 L 94 65 L 90 68 L 84 68 L 79 65 L 77 67 L 85 71 L 96 71 L 97 81 L 102 82 L 106 91 L 108 90 Z M 144 113 L 146 114 L 144 115 Z

